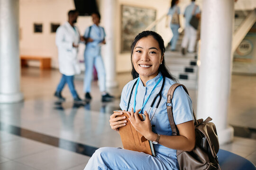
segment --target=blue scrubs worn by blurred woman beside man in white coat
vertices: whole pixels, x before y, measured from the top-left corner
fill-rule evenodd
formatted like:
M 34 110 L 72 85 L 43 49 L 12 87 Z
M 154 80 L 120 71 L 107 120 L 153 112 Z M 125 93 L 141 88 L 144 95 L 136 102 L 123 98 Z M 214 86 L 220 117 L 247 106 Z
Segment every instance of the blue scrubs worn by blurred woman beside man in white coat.
M 95 24 L 85 30 L 84 37 L 93 39 L 93 42 L 88 42 L 84 50 L 85 74 L 83 79 L 83 91 L 91 92 L 91 79 L 93 66 L 95 66 L 98 78 L 100 91 L 106 91 L 106 74 L 105 67 L 101 57 L 101 42 L 106 34 L 104 28 Z

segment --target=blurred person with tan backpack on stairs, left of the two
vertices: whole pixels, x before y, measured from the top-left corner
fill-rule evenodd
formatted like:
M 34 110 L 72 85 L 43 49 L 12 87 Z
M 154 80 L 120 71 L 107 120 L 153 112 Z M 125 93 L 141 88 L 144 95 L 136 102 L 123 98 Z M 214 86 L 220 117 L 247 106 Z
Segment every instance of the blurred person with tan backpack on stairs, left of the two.
M 180 28 L 180 7 L 178 7 L 179 0 L 172 0 L 171 2 L 171 8 L 169 8 L 169 11 L 167 13 L 167 16 L 172 16 L 172 20 L 170 22 L 170 27 L 173 32 L 173 37 L 169 44 L 171 44 L 171 51 L 176 51 L 176 44 L 179 39 L 179 32 L 178 29 Z M 174 18 L 175 17 L 175 18 Z M 166 27 L 168 26 L 167 21 L 169 17 L 166 17 Z M 174 21 L 175 19 L 175 21 Z M 174 22 L 175 23 L 174 23 Z

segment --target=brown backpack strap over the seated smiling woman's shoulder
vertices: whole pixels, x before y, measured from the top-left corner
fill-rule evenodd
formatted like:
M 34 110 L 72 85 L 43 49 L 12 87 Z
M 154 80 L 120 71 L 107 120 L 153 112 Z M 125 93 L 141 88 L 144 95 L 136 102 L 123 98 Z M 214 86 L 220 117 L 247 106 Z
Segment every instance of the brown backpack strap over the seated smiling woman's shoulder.
M 173 97 L 174 97 L 174 91 L 179 86 L 183 86 L 183 89 L 189 95 L 187 88 L 184 85 L 178 84 L 178 83 L 175 83 L 174 85 L 172 85 L 169 88 L 169 91 L 167 93 L 166 107 L 167 107 L 167 114 L 168 114 L 170 126 L 171 126 L 172 131 L 173 131 L 173 133 L 172 133 L 173 136 L 179 135 L 179 130 L 178 130 L 178 128 L 177 128 L 177 126 L 176 126 L 176 124 L 174 122 L 173 103 L 172 103 L 172 100 L 173 100 Z M 194 116 L 195 124 L 198 125 L 198 121 L 197 121 L 197 119 L 195 117 L 194 110 L 193 110 L 193 116 Z

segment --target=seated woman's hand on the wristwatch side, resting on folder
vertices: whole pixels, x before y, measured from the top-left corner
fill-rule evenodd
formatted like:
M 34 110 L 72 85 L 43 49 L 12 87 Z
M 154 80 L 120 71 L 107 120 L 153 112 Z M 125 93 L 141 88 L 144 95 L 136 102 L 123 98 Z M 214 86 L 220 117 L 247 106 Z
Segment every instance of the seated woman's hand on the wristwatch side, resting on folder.
M 146 119 L 144 121 L 141 121 L 141 119 L 139 118 L 139 113 L 140 109 L 137 110 L 136 112 L 134 112 L 133 108 L 131 109 L 131 111 L 129 111 L 127 114 L 129 116 L 129 120 L 132 124 L 132 126 L 144 137 L 146 137 L 146 139 L 151 140 L 151 136 L 154 136 L 154 132 L 152 132 L 152 127 L 151 127 L 151 123 L 149 120 L 149 116 L 147 114 L 146 111 L 144 111 L 144 114 L 146 116 Z

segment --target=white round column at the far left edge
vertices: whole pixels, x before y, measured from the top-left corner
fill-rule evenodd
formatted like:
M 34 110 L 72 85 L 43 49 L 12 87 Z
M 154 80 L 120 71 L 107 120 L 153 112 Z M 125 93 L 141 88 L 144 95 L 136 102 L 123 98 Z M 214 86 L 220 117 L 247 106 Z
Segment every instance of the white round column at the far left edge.
M 0 103 L 19 102 L 19 0 L 0 0 Z

